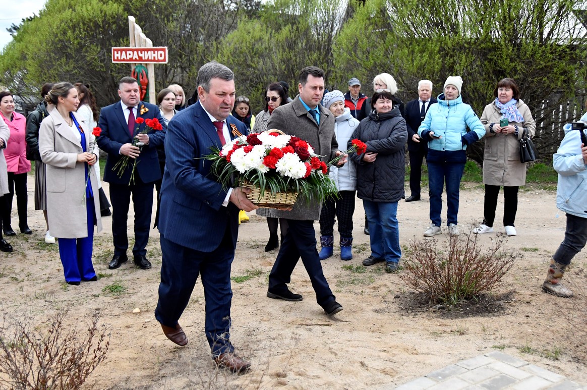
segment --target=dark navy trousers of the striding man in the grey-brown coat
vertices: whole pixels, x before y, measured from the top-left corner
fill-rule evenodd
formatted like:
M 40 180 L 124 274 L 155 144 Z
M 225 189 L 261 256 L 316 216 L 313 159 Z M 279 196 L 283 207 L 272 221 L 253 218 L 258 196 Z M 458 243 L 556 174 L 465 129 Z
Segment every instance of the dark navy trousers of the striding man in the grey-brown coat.
M 298 260 L 302 258 L 303 266 L 316 292 L 316 302 L 322 307 L 335 300 L 328 282 L 322 273 L 322 264 L 316 250 L 316 232 L 314 221 L 288 219 L 288 234 L 279 248 L 275 264 L 269 273 L 269 291 L 279 293 L 286 290 L 291 282 L 292 272 Z

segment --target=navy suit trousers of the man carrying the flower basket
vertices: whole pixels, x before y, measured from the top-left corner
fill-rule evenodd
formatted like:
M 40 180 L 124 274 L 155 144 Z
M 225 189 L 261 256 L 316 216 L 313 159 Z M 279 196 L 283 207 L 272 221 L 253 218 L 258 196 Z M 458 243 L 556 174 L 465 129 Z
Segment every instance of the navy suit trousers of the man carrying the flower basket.
M 204 330 L 214 356 L 234 351 L 230 342 L 230 269 L 234 246 L 229 232 L 227 228 L 220 246 L 210 253 L 178 245 L 163 234 L 160 238 L 163 264 L 155 317 L 163 325 L 176 327 L 201 275 L 206 301 Z

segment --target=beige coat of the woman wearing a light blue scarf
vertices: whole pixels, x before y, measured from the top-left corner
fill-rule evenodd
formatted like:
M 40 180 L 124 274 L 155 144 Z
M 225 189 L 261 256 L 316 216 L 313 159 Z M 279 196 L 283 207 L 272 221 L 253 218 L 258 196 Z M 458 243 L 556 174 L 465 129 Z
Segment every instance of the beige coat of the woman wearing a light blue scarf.
M 519 162 L 519 140 L 522 139 L 523 127 L 528 130 L 530 138 L 534 137 L 536 124 L 529 107 L 521 100 L 516 104 L 524 122 L 511 122 L 518 125 L 519 134 L 491 133 L 491 123 L 500 124 L 502 113 L 495 102 L 485 106 L 481 123 L 485 126 L 485 152 L 483 153 L 483 183 L 490 186 L 523 186 L 526 183 L 526 164 Z

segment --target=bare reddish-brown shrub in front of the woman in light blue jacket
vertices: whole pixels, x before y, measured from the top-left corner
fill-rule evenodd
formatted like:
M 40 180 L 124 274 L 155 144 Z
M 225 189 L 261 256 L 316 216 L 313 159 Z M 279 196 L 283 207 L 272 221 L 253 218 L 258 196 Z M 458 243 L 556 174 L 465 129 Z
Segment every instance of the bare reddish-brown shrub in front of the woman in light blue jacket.
M 501 236 L 485 248 L 473 233 L 450 237 L 442 244 L 438 241 L 411 241 L 403 280 L 428 295 L 431 302 L 441 304 L 455 305 L 491 291 L 514 265 L 517 255 L 503 248 Z

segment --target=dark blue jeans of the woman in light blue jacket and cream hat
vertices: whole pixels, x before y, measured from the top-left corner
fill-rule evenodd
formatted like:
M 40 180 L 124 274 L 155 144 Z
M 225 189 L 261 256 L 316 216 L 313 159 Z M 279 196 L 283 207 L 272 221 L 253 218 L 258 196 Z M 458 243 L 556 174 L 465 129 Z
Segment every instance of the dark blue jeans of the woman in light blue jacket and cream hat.
M 447 225 L 458 224 L 458 187 L 463 177 L 464 163 L 428 162 L 428 186 L 430 189 L 430 220 L 441 226 L 442 192 L 446 182 Z

